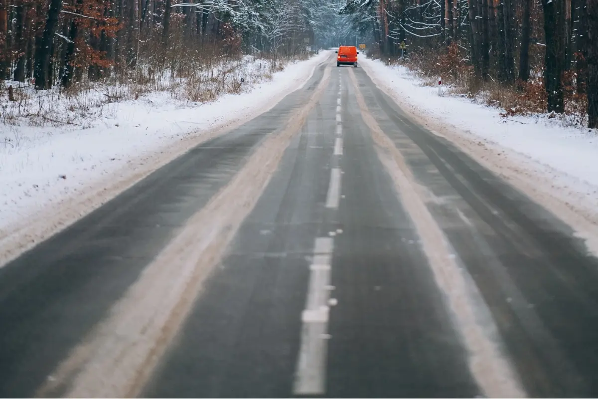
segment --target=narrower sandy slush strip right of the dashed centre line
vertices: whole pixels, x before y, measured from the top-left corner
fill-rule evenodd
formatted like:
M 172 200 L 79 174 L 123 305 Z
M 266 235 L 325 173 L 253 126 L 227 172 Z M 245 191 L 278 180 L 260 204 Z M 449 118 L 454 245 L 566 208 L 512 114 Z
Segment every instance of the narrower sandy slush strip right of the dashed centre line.
M 486 305 L 481 296 L 475 295 L 468 287 L 468 279 L 463 275 L 450 243 L 422 199 L 422 187 L 416 183 L 401 152 L 380 129 L 368 110 L 352 70 L 349 75 L 355 87 L 362 118 L 370 128 L 374 142 L 379 146 L 377 153 L 380 160 L 395 182 L 401 202 L 422 239 L 423 252 L 428 258 L 438 287 L 446 295 L 455 325 L 469 352 L 472 376 L 487 397 L 526 397 L 517 374 L 502 355 L 502 345 L 488 336 L 488 331 L 496 331 L 496 326 L 483 326 L 478 322 L 476 313 L 480 306 Z

